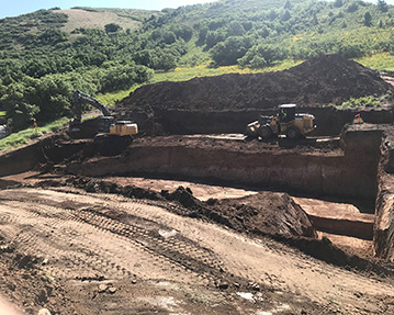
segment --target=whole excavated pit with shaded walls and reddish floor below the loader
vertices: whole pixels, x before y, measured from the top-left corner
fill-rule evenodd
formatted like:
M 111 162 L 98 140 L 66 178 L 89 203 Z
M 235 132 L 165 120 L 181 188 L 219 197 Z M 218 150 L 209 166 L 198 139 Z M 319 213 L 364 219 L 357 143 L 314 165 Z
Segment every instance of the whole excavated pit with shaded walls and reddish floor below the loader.
M 46 160 L 48 170 L 55 166 L 61 173 L 150 190 L 156 187 L 157 193 L 175 190 L 175 185 L 168 189 L 162 181 L 181 180 L 184 187 L 209 187 L 202 189 L 205 200 L 210 194 L 211 199 L 221 199 L 217 198 L 221 192 L 215 193 L 212 187 L 226 188 L 224 193 L 222 190 L 225 199 L 241 199 L 259 191 L 285 192 L 294 196 L 317 230 L 367 241 L 373 239 L 375 250 L 381 249 L 376 254 L 390 259 L 391 251 L 383 249 L 392 247 L 390 220 L 381 222 L 379 205 L 375 217 L 376 198 L 383 198 L 381 179 L 389 176 L 381 169 L 391 165 L 390 154 L 389 162 L 382 158 L 385 133 L 381 125 L 351 125 L 340 140 L 320 137 L 296 144 L 285 139 L 247 142 L 240 135 L 142 137 L 121 155 L 109 157 L 91 157 L 90 140 L 56 138 L 53 142 L 56 145 L 24 148 L 32 154 L 29 162 L 20 162 L 20 171 Z M 13 166 L 9 168 L 11 172 L 16 173 L 15 161 L 22 156 L 26 157 L 14 153 L 14 158 L 2 158 L 4 165 Z M 145 182 L 133 180 L 138 177 Z M 2 178 L 4 184 L 12 180 L 12 177 Z M 390 207 L 385 209 L 390 212 Z M 386 212 L 383 218 L 387 217 Z

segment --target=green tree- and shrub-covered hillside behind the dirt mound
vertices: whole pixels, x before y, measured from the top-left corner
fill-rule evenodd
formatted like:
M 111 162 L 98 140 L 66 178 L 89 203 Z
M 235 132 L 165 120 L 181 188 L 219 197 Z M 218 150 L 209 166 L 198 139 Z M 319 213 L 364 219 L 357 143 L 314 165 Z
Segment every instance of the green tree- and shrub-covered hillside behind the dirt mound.
M 225 0 L 120 12 L 140 27 L 114 22 L 66 33 L 68 16 L 50 10 L 0 20 L 0 109 L 14 131 L 32 117 L 70 115 L 76 89 L 115 92 L 180 66 L 259 69 L 317 54 L 394 52 L 394 8 L 383 0 Z

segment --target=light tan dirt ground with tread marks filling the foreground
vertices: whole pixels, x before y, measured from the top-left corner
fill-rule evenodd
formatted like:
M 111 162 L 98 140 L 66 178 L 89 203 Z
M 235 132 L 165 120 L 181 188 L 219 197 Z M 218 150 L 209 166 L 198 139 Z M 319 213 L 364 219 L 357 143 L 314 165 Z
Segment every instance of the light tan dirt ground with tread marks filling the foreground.
M 44 306 L 54 314 L 394 312 L 389 280 L 178 216 L 151 201 L 2 190 L 0 222 L 1 251 L 12 257 L 0 263 L 8 283 L 1 286 L 30 314 Z M 10 268 L 22 272 L 23 285 Z M 23 295 L 36 278 L 45 290 Z

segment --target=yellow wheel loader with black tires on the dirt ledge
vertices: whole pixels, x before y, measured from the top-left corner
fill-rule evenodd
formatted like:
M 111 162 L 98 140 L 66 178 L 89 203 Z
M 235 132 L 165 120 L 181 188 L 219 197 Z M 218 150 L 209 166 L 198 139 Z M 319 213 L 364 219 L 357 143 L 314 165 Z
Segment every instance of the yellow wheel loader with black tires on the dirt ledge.
M 295 108 L 295 104 L 279 105 L 275 115 L 261 115 L 258 121 L 247 125 L 245 134 L 263 139 L 279 135 L 285 135 L 289 139 L 297 139 L 314 131 L 316 127 L 315 116 L 296 113 Z

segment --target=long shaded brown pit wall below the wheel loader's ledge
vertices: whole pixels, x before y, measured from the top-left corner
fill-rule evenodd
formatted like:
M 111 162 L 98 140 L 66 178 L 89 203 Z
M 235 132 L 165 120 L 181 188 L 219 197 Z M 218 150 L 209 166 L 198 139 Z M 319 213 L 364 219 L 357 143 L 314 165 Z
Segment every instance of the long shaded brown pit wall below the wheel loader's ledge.
M 360 137 L 362 140 L 358 140 Z M 237 150 L 227 147 L 166 145 L 157 140 L 135 142 L 115 158 L 91 159 L 70 165 L 68 171 L 85 176 L 139 175 L 193 178 L 261 189 L 314 195 L 336 195 L 374 200 L 379 161 L 379 133 L 346 135 L 345 155 L 305 154 L 296 149 L 272 151 Z M 362 154 L 362 158 L 360 155 Z

